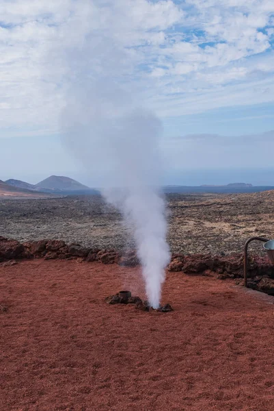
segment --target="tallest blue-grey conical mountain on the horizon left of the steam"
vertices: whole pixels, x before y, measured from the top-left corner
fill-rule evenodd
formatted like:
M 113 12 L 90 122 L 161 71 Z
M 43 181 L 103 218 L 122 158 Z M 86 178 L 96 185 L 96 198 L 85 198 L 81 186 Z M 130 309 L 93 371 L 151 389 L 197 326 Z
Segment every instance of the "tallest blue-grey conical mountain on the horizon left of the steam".
M 36 184 L 36 190 L 51 190 L 52 192 L 88 192 L 92 189 L 84 186 L 70 177 L 51 175 L 42 182 Z

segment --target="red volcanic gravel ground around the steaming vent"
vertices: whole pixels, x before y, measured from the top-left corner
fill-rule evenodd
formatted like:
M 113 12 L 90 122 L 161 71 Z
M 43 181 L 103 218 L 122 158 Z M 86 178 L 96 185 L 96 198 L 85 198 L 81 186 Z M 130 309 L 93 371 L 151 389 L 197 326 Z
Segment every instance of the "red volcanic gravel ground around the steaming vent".
M 174 312 L 105 303 L 130 283 L 143 297 L 138 276 L 75 261 L 1 266 L 1 411 L 274 409 L 273 304 L 182 273 L 163 290 Z

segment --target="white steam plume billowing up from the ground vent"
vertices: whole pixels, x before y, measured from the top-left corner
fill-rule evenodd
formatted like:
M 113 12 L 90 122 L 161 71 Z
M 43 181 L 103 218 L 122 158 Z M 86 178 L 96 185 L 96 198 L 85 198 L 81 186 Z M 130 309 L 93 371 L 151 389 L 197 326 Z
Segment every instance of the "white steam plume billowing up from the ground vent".
M 169 262 L 165 201 L 156 188 L 161 122 L 107 81 L 71 92 L 62 118 L 66 144 L 88 171 L 103 175 L 102 194 L 133 226 L 148 299 L 157 308 Z

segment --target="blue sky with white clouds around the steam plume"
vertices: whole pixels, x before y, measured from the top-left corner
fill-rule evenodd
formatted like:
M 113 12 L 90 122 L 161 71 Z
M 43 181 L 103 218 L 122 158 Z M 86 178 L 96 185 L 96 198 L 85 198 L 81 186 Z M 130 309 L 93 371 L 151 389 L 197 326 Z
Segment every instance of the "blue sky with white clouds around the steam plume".
M 163 183 L 274 186 L 273 49 L 273 0 L 2 0 L 0 179 L 98 186 L 60 117 L 100 75 L 161 120 Z

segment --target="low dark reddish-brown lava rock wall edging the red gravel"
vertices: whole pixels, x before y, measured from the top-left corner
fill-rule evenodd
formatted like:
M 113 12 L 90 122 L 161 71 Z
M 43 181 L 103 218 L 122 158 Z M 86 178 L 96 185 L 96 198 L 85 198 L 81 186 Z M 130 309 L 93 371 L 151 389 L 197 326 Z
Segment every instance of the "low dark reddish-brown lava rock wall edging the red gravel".
M 85 248 L 79 244 L 67 245 L 61 240 L 39 240 L 20 243 L 0 236 L 0 263 L 14 264 L 18 259 L 44 258 L 45 260 L 74 260 L 137 266 L 136 251 L 120 253 L 115 250 Z M 232 278 L 243 284 L 243 255 L 210 256 L 172 254 L 168 271 L 182 271 L 188 275 L 208 275 L 219 279 Z M 249 287 L 274 295 L 274 266 L 267 256 L 250 256 Z

